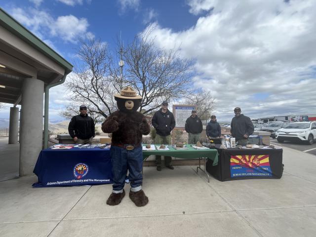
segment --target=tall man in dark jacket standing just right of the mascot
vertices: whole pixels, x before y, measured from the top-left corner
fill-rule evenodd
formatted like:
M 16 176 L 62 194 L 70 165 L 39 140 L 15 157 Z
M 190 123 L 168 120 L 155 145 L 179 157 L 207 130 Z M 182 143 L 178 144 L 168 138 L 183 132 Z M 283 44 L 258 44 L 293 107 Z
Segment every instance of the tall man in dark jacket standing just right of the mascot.
M 152 124 L 156 129 L 155 144 L 171 145 L 171 131 L 176 125 L 173 114 L 168 110 L 168 102 L 163 101 L 161 109 L 152 118 Z M 156 156 L 157 170 L 161 171 L 161 156 Z M 171 157 L 164 157 L 164 164 L 169 169 L 174 169 L 171 165 Z

